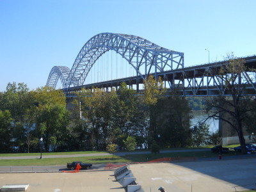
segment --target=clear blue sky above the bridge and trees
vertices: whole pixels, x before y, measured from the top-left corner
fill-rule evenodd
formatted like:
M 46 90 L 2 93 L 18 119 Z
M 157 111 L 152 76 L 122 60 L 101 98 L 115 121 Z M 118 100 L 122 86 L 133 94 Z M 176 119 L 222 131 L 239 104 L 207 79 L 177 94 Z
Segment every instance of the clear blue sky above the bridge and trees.
M 0 92 L 8 82 L 44 86 L 72 68 L 98 33 L 137 35 L 184 52 L 184 65 L 256 54 L 255 0 L 0 0 Z

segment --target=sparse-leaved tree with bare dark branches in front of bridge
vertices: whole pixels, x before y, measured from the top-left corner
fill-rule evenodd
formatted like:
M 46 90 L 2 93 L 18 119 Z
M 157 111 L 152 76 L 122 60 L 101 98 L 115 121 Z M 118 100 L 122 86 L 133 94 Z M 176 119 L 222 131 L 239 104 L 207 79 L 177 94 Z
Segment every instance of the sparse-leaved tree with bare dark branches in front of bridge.
M 207 100 L 206 111 L 208 118 L 214 118 L 226 122 L 234 131 L 237 132 L 241 150 L 246 154 L 243 127 L 246 119 L 250 116 L 249 111 L 255 110 L 252 101 L 244 92 L 248 77 L 244 74 L 250 71 L 244 65 L 245 61 L 241 58 L 229 57 L 228 65 L 220 68 L 218 71 L 212 71 L 218 77 L 218 81 L 224 83 L 226 92 L 230 97 L 225 97 L 223 92 L 218 97 Z

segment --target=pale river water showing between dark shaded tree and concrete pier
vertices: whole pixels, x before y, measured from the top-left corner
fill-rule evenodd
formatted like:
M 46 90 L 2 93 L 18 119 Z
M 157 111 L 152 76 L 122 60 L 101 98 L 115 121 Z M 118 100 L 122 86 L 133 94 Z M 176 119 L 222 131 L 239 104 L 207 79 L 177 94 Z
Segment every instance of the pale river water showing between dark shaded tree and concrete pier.
M 204 111 L 192 111 L 190 113 L 193 118 L 191 119 L 191 126 L 196 125 L 198 121 L 202 121 L 207 118 L 207 115 Z M 216 132 L 219 129 L 219 120 L 209 119 L 207 120 L 206 124 L 209 124 L 209 131 Z

